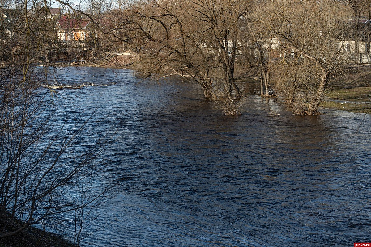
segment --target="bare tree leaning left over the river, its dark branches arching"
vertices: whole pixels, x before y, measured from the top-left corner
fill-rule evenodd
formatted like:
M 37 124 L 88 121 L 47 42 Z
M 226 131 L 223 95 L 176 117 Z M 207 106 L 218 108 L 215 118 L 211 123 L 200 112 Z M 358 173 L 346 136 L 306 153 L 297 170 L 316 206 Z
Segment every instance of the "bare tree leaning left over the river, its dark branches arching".
M 212 56 L 204 42 L 205 33 L 180 5 L 141 1 L 122 11 L 125 21 L 121 24 L 129 30 L 128 40 L 140 54 L 138 70 L 152 79 L 174 74 L 191 77 L 206 98 L 215 99 L 208 74 Z

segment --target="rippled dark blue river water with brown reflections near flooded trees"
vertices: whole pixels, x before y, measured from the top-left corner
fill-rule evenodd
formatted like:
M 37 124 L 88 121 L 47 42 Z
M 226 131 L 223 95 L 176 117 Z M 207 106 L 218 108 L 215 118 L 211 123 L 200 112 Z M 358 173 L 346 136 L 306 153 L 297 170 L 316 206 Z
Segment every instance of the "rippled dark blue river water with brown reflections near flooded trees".
M 118 181 L 119 191 L 87 227 L 89 246 L 371 242 L 370 116 L 323 110 L 300 117 L 250 95 L 242 116 L 226 117 L 191 81 L 57 71 L 59 84 L 74 85 L 56 89 L 65 107 L 94 113 L 81 148 L 117 131 L 92 169 Z

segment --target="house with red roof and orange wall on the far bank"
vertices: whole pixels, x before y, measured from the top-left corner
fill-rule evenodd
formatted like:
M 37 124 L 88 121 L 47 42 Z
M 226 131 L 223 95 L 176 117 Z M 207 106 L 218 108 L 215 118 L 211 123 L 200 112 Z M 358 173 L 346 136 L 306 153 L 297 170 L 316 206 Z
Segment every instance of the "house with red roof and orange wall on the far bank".
M 62 16 L 55 24 L 58 41 L 80 41 L 89 37 L 89 26 L 91 21 Z

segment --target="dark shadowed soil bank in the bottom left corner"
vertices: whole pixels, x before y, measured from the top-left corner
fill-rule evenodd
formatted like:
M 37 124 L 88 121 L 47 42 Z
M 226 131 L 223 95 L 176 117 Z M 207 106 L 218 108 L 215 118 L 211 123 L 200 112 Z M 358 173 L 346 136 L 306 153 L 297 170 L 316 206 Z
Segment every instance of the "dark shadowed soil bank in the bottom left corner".
M 0 247 L 73 247 L 62 235 L 28 227 L 16 236 L 0 238 Z

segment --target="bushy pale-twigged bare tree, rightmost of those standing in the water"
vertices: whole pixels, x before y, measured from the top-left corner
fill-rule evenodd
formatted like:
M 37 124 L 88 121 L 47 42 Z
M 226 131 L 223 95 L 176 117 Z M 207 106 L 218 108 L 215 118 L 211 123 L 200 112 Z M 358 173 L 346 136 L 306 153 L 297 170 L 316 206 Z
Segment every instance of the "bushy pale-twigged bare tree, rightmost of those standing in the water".
M 294 113 L 318 114 L 331 77 L 348 61 L 339 43 L 347 40 L 349 8 L 335 0 L 280 0 L 264 10 L 259 23 L 281 50 L 276 90 Z

